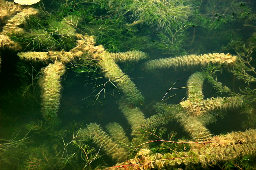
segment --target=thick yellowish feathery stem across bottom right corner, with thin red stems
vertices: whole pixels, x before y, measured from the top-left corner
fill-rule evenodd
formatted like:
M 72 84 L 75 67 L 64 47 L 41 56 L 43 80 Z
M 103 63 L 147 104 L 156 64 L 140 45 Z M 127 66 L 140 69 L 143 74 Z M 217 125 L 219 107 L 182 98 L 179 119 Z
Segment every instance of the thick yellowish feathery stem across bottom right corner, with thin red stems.
M 211 141 L 176 143 L 187 143 L 191 146 L 191 150 L 154 154 L 148 149 L 141 149 L 135 158 L 108 169 L 120 169 L 121 167 L 166 169 L 179 167 L 180 165 L 186 165 L 194 169 L 198 164 L 206 168 L 209 165 L 219 165 L 217 162 L 233 161 L 245 155 L 255 155 L 256 152 L 255 129 L 246 130 L 245 132 L 232 132 L 226 135 L 216 135 Z

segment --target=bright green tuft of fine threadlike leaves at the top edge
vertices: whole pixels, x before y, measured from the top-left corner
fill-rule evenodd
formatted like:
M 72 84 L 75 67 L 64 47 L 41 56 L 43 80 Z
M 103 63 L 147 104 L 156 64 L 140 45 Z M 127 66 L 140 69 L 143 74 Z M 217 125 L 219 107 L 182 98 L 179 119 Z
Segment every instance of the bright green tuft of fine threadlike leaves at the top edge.
M 183 0 L 174 1 L 113 1 L 110 6 L 119 7 L 118 12 L 134 23 L 145 23 L 161 29 L 180 27 L 192 15 L 191 7 Z

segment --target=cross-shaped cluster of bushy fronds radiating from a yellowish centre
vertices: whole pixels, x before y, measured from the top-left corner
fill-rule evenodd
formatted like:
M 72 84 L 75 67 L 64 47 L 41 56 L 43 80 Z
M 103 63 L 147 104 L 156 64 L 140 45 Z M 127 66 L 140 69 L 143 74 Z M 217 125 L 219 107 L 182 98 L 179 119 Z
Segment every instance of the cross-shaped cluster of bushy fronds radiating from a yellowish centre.
M 166 119 L 166 117 L 170 117 L 170 120 L 176 119 L 194 141 L 205 141 L 212 137 L 210 131 L 205 126 L 216 121 L 216 114 L 223 116 L 222 113 L 227 111 L 227 109 L 235 107 L 241 108 L 249 114 L 252 112 L 252 108 L 243 101 L 243 98 L 239 97 L 212 97 L 203 100 L 203 80 L 204 74 L 201 72 L 196 72 L 190 76 L 188 80 L 188 98 L 180 102 L 179 106 L 156 105 L 158 111 L 164 112 L 164 114 L 161 114 L 163 116 L 162 119 Z M 161 119 L 161 117 L 158 119 Z M 163 123 L 165 124 L 165 122 Z

